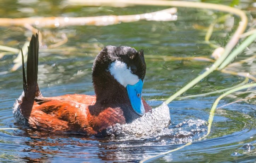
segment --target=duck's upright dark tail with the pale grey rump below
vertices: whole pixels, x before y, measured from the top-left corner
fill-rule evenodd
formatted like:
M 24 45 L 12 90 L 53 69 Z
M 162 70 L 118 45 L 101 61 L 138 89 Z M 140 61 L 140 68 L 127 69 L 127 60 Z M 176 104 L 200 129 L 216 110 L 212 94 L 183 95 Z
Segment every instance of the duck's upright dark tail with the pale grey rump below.
M 14 104 L 14 118 L 19 123 L 25 123 L 28 120 L 32 111 L 35 98 L 41 96 L 39 87 L 37 85 L 37 71 L 38 71 L 38 54 L 39 54 L 39 41 L 38 34 L 32 35 L 28 47 L 27 59 L 27 78 L 25 75 L 24 56 L 22 53 L 22 70 L 23 70 L 23 94 Z M 25 119 L 24 119 L 25 118 Z

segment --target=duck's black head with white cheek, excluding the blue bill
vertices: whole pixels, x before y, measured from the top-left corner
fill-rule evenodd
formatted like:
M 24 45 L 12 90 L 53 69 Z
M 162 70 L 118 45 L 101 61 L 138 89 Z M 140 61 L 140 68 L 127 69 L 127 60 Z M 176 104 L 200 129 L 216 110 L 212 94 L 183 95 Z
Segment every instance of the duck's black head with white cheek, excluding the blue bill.
M 134 85 L 146 74 L 144 51 L 137 52 L 127 46 L 106 46 L 95 58 L 92 68 L 94 90 L 99 98 L 109 98 L 111 93 L 126 91 L 127 85 Z M 120 97 L 122 98 L 122 97 Z

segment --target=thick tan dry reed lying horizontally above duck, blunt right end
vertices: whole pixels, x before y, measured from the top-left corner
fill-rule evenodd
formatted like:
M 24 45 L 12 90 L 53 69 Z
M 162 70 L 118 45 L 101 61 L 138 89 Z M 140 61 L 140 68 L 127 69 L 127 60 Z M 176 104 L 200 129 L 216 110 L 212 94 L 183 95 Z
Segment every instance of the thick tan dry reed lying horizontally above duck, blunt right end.
M 122 16 L 93 16 L 93 17 L 30 17 L 30 18 L 0 18 L 0 26 L 24 26 L 25 24 L 35 25 L 36 27 L 65 27 L 70 25 L 113 25 L 121 22 L 135 22 L 140 20 L 149 21 L 164 21 L 161 19 L 161 13 L 167 13 L 165 21 L 175 21 L 177 19 L 176 8 L 168 8 L 156 12 L 122 15 Z M 158 15 L 160 13 L 160 15 Z M 151 15 L 152 17 L 148 17 Z M 153 19 L 154 16 L 159 17 L 159 20 Z

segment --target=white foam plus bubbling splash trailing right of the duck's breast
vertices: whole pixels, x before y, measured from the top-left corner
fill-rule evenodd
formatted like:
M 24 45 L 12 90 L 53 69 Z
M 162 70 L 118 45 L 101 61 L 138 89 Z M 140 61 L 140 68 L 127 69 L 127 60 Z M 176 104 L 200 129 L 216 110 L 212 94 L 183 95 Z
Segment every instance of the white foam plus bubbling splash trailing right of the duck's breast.
M 169 107 L 163 103 L 132 123 L 107 128 L 106 133 L 116 141 L 152 139 L 160 144 L 182 144 L 199 139 L 207 131 L 205 120 L 187 119 L 176 126 L 170 122 Z

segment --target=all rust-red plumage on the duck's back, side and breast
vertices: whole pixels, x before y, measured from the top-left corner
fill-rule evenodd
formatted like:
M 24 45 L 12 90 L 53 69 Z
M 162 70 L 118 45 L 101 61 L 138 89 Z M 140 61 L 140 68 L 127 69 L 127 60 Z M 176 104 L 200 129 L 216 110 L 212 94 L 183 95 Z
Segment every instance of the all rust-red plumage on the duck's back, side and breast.
M 88 100 L 84 100 L 88 99 Z M 146 112 L 151 110 L 142 100 Z M 126 123 L 121 108 L 95 104 L 95 96 L 68 94 L 59 97 L 37 98 L 28 119 L 29 126 L 47 131 L 74 131 L 98 134 L 116 123 Z M 92 115 L 89 106 L 97 115 Z

